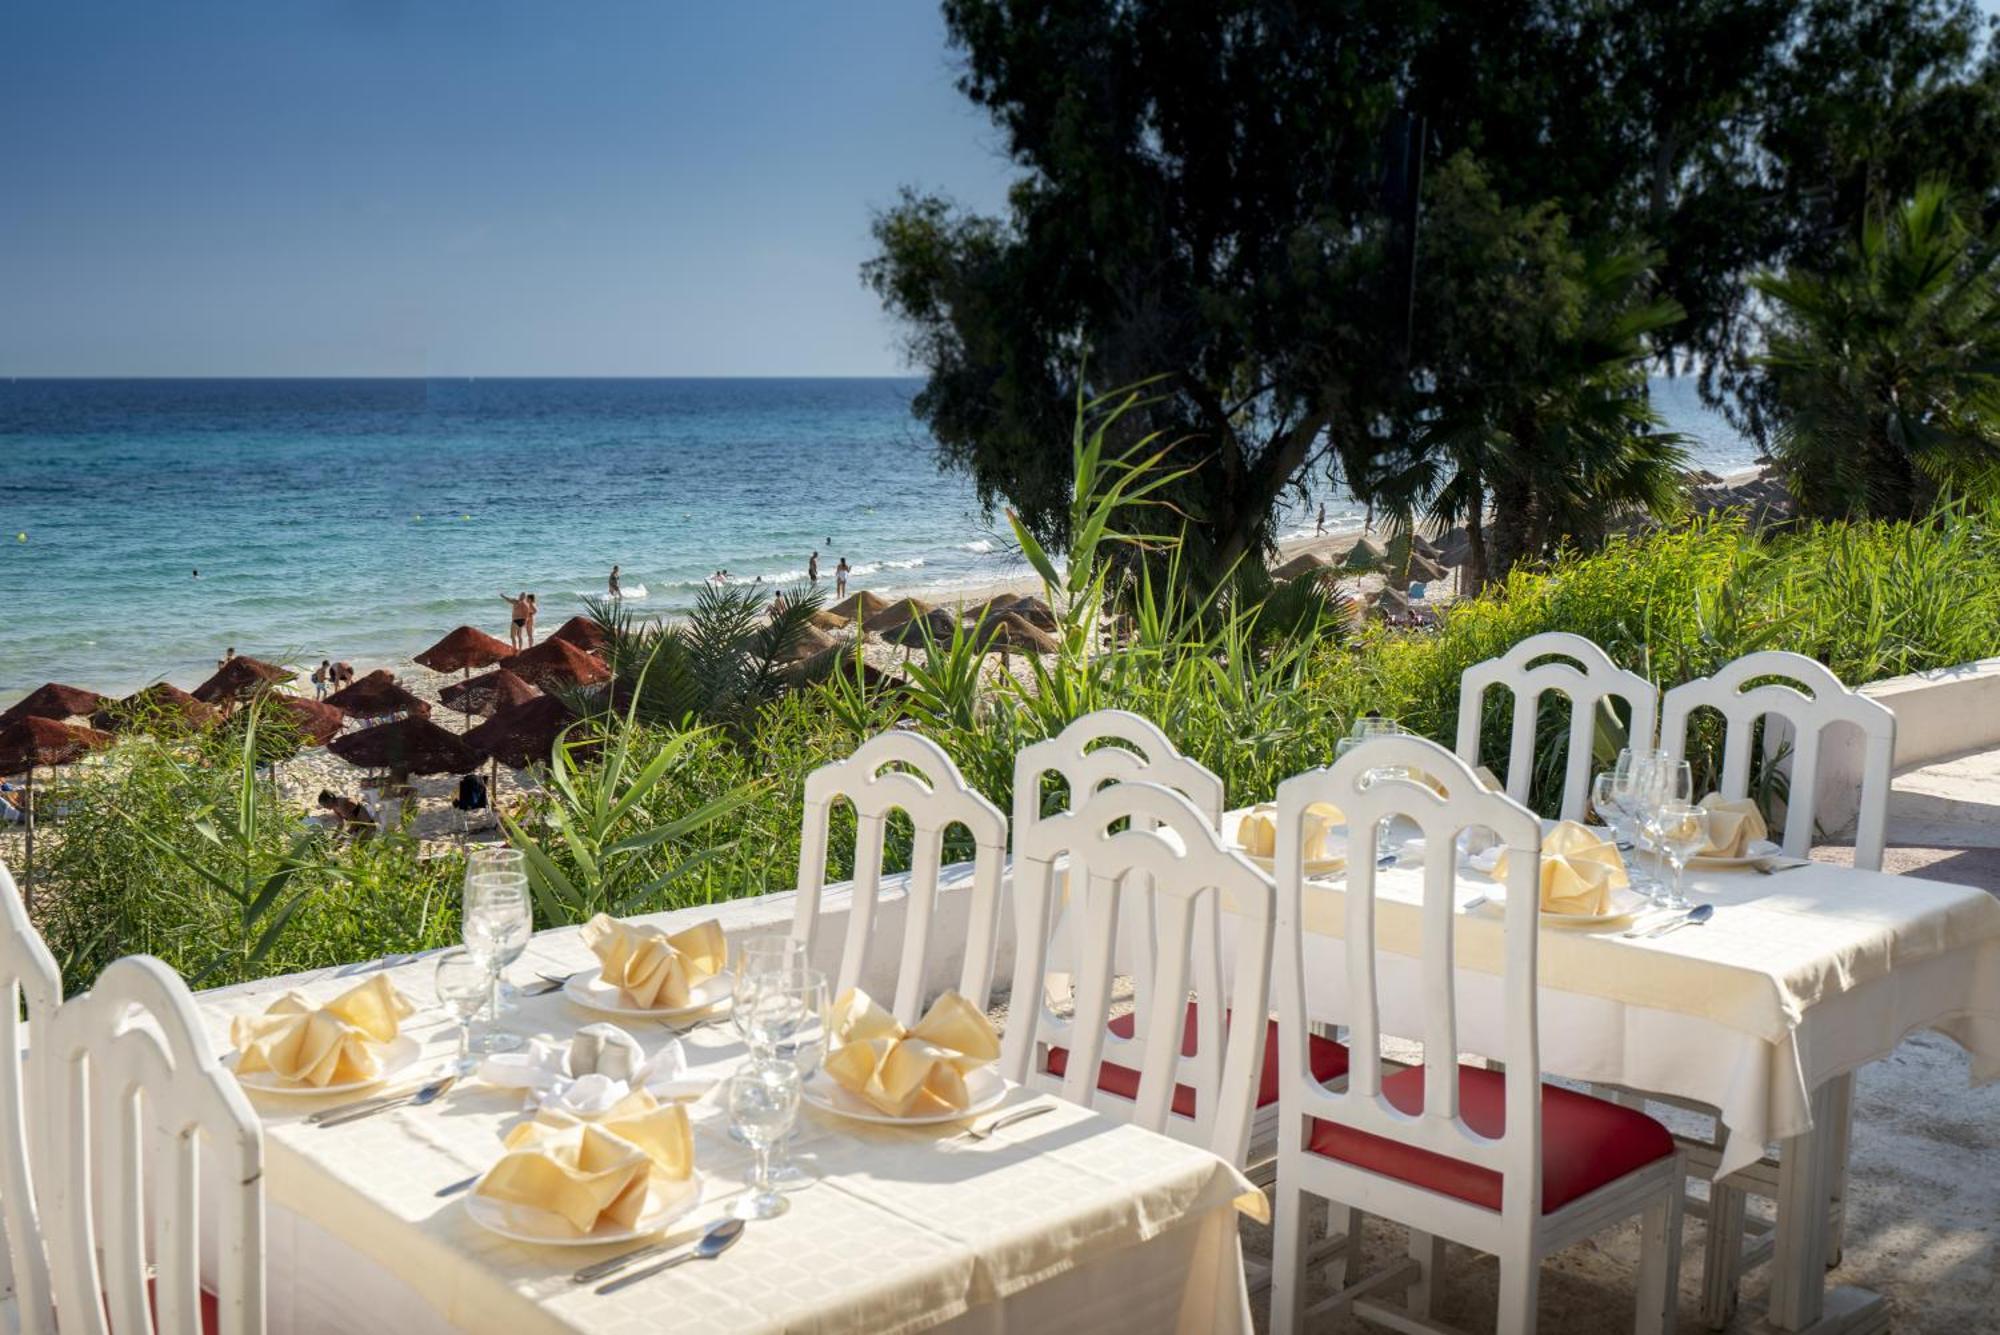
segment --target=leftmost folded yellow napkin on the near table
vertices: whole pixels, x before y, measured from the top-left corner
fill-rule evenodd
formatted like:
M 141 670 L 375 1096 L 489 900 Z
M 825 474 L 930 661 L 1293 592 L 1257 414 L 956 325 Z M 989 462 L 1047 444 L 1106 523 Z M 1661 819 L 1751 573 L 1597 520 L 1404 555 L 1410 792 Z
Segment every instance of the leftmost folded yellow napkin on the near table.
M 236 1073 L 270 1071 L 288 1085 L 352 1085 L 382 1075 L 380 1043 L 392 1043 L 416 1013 L 388 975 L 376 973 L 326 1005 L 288 991 L 262 1015 L 230 1021 Z

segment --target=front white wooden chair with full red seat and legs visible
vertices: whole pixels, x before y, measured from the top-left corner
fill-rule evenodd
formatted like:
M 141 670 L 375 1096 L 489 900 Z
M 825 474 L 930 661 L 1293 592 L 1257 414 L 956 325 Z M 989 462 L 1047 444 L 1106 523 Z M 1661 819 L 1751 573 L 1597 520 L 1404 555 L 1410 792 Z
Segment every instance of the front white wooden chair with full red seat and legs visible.
M 1386 773 L 1382 773 L 1386 771 Z M 1422 775 L 1422 777 L 1410 777 Z M 1432 779 L 1432 787 L 1424 779 Z M 1440 791 L 1442 789 L 1442 791 Z M 1306 807 L 1346 811 L 1350 847 L 1340 937 L 1346 993 L 1332 1017 L 1348 1025 L 1344 1091 L 1308 1069 L 1302 1035 L 1318 1013 L 1306 997 L 1300 867 Z M 1422 827 L 1422 1043 L 1424 1063 L 1384 1077 L 1376 993 L 1376 841 L 1380 823 Z M 1458 835 L 1488 829 L 1508 849 L 1504 1043 L 1484 1053 L 1504 1071 L 1460 1065 L 1456 995 Z M 1674 1323 L 1680 1257 L 1682 1161 L 1666 1127 L 1642 1111 L 1542 1083 L 1536 1037 L 1542 823 L 1524 805 L 1480 787 L 1472 767 L 1422 737 L 1376 737 L 1278 785 L 1276 989 L 1280 1025 L 1278 1217 L 1272 1331 L 1308 1315 L 1352 1311 L 1396 1329 L 1442 1329 L 1430 1297 L 1452 1239 L 1500 1259 L 1500 1331 L 1536 1325 L 1542 1257 L 1640 1215 L 1636 1329 Z M 1408 1035 L 1418 1037 L 1418 1035 Z M 1306 1311 L 1306 1199 L 1404 1223 L 1410 1257 L 1348 1283 Z M 1338 1265 L 1338 1263 L 1336 1263 Z M 1376 1293 L 1404 1289 L 1394 1307 Z

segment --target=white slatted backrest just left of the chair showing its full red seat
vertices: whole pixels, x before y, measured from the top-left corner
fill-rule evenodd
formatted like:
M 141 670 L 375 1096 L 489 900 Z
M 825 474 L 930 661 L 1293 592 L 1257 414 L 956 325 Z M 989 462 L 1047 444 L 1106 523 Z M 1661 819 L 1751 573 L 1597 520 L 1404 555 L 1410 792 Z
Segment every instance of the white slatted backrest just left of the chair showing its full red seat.
M 1056 861 L 1084 885 L 1082 947 L 1074 961 L 1076 1009 L 1062 1017 L 1044 997 L 1056 915 Z M 1120 913 L 1120 899 L 1146 897 L 1152 913 Z M 1234 985 L 1224 993 L 1222 897 L 1236 915 Z M 1078 905 L 1072 903 L 1072 911 Z M 1270 879 L 1222 843 L 1208 813 L 1160 783 L 1112 783 L 1076 809 L 1036 821 L 1014 849 L 1014 993 L 1002 1071 L 1018 1083 L 1058 1091 L 1072 1103 L 1130 1117 L 1152 1131 L 1206 1145 L 1240 1163 L 1264 1061 L 1270 995 Z M 1130 953 L 1152 961 L 1154 985 L 1138 997 L 1132 1037 L 1108 1031 L 1120 923 L 1152 923 Z M 1188 993 L 1196 997 L 1196 1051 L 1182 1055 Z M 1224 1025 L 1224 1013 L 1234 1021 Z M 1226 1031 L 1226 1033 L 1224 1033 Z M 1066 1049 L 1064 1075 L 1048 1073 L 1048 1049 Z M 1100 1067 L 1136 1069 L 1138 1097 L 1098 1089 Z M 1174 1087 L 1194 1091 L 1194 1117 L 1174 1113 Z

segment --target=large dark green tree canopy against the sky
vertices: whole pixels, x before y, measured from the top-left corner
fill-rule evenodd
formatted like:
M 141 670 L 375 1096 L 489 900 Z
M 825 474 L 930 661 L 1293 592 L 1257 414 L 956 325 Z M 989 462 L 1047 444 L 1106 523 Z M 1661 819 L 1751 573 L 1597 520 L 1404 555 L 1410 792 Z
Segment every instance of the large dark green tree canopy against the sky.
M 1924 178 L 2000 210 L 2000 64 L 1972 0 L 944 16 L 1020 176 L 998 218 L 906 192 L 864 278 L 926 376 L 940 460 L 1046 542 L 1076 396 L 1158 376 L 1124 426 L 1192 468 L 1172 500 L 1204 568 L 1266 548 L 1320 474 L 1406 514 L 1562 480 L 1544 514 L 1496 514 L 1504 568 L 1610 504 L 1672 506 L 1648 360 L 1696 366 L 1768 432 L 1754 272 L 1830 264 Z

